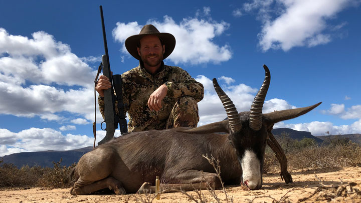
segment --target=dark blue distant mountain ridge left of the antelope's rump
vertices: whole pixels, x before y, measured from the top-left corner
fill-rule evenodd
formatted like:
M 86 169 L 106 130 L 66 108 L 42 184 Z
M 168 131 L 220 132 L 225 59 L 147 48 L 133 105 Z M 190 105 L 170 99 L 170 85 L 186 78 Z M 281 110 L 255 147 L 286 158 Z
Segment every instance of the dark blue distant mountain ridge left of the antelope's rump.
M 50 150 L 37 152 L 20 152 L 0 157 L 0 160 L 3 158 L 4 163 L 13 163 L 18 167 L 21 167 L 23 165 L 29 165 L 30 167 L 34 165 L 40 165 L 42 167 L 53 167 L 53 161 L 58 162 L 61 158 L 63 158 L 61 165 L 70 166 L 74 162 L 78 162 L 79 158 L 83 154 L 91 151 L 92 149 L 93 147 L 89 146 L 69 151 Z

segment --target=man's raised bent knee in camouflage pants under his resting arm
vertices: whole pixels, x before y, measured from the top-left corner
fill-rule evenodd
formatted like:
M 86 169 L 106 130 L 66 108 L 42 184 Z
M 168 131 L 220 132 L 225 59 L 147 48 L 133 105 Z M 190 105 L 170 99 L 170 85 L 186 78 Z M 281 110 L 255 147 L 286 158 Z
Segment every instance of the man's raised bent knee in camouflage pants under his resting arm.
M 169 118 L 165 124 L 165 128 L 176 127 L 197 127 L 199 121 L 197 101 L 190 96 L 178 98 Z

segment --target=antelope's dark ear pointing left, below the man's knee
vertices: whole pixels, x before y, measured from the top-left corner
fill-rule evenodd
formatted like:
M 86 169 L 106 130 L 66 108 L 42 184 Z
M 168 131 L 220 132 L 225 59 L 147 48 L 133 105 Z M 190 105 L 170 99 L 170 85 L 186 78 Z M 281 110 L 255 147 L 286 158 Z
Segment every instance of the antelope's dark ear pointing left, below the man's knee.
M 229 133 L 229 124 L 228 124 L 228 120 L 224 120 L 179 132 L 192 133 L 192 134 L 204 134 L 204 133 L 213 133 L 213 132 Z

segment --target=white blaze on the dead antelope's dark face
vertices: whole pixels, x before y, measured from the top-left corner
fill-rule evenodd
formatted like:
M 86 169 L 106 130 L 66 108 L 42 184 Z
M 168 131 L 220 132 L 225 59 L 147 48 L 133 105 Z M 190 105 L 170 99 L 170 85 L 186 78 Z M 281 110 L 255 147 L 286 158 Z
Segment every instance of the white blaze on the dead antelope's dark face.
M 243 182 L 247 184 L 250 189 L 254 189 L 257 185 L 260 185 L 262 182 L 261 166 L 257 155 L 252 150 L 247 149 L 240 163 L 243 172 Z

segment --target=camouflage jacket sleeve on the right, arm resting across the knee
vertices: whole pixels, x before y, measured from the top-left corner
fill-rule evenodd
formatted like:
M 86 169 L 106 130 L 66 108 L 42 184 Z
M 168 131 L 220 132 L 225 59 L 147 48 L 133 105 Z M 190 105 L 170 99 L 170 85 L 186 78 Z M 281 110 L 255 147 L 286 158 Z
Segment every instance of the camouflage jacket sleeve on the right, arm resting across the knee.
M 187 71 L 181 68 L 174 68 L 171 71 L 171 81 L 164 83 L 167 88 L 167 96 L 178 98 L 191 96 L 200 102 L 204 97 L 204 87 L 202 83 L 197 82 Z

